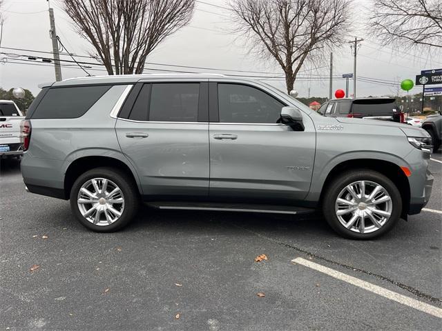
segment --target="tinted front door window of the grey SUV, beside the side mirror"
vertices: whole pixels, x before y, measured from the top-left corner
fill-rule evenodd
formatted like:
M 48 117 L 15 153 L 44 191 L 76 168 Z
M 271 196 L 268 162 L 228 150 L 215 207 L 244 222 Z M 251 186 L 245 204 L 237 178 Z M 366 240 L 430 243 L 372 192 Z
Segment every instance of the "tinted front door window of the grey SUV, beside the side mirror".
M 221 123 L 277 123 L 284 106 L 256 88 L 218 84 Z

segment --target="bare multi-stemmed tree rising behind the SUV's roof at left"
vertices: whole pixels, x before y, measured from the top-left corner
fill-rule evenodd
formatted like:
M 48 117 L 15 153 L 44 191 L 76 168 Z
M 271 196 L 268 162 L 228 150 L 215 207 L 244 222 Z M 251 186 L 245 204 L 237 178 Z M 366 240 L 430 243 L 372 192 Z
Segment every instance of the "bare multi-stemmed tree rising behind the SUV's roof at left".
M 166 37 L 189 23 L 195 0 L 63 0 L 108 74 L 141 74 Z

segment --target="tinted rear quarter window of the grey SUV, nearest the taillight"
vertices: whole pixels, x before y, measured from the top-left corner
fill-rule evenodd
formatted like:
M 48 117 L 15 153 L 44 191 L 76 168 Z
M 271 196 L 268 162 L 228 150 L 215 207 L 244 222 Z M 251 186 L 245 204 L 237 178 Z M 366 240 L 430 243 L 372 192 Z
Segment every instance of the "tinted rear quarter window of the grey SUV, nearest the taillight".
M 50 88 L 32 114 L 33 119 L 75 119 L 83 116 L 111 86 Z

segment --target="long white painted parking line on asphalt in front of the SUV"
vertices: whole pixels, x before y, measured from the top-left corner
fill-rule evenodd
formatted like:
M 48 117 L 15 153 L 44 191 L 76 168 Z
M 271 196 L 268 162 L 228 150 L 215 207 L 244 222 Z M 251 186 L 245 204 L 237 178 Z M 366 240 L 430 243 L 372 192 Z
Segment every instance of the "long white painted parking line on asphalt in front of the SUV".
M 363 288 L 364 290 L 378 294 L 381 297 L 402 303 L 403 305 L 420 310 L 421 312 L 426 312 L 427 314 L 431 314 L 435 317 L 442 318 L 442 309 L 437 308 L 434 305 L 429 305 L 416 299 L 405 297 L 405 295 L 387 290 L 386 288 L 381 288 L 381 286 L 368 283 L 367 281 L 363 281 L 356 277 L 349 276 L 348 274 L 344 274 L 343 272 L 338 272 L 334 269 L 327 268 L 324 265 L 302 259 L 301 257 L 297 257 L 296 259 L 291 260 L 291 262 L 304 265 L 307 268 L 311 268 L 319 272 L 323 272 L 323 274 L 328 274 L 329 276 L 339 279 L 340 281 L 345 281 L 349 284 L 358 286 L 358 288 Z

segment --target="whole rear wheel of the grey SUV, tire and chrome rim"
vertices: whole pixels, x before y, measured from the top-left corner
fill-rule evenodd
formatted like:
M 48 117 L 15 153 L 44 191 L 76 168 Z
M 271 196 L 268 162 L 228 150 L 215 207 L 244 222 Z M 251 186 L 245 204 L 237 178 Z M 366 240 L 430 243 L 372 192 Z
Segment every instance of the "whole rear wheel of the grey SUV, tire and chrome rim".
M 70 208 L 86 228 L 113 232 L 127 225 L 137 213 L 138 194 L 130 178 L 113 168 L 89 170 L 70 190 Z

